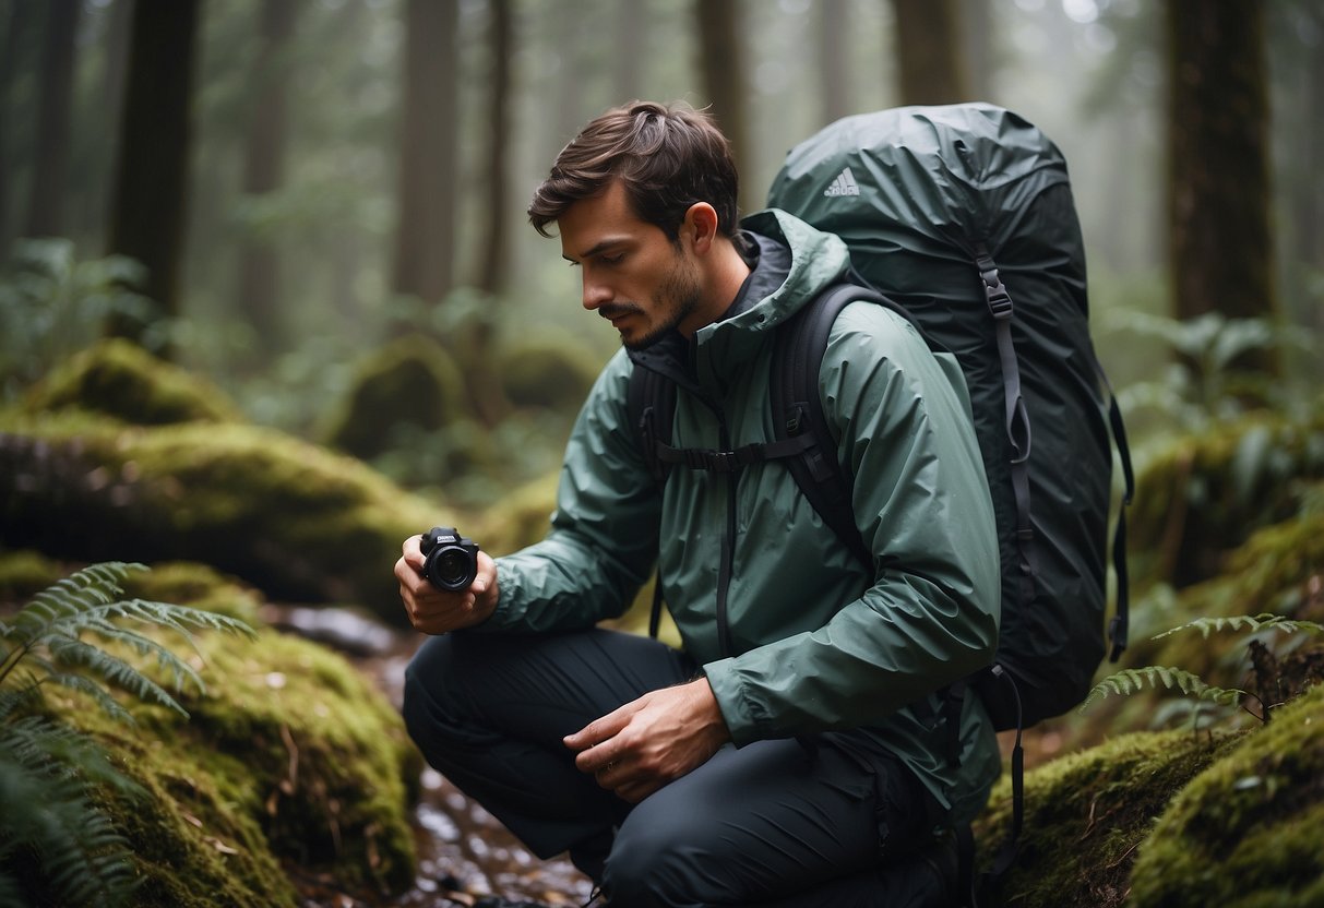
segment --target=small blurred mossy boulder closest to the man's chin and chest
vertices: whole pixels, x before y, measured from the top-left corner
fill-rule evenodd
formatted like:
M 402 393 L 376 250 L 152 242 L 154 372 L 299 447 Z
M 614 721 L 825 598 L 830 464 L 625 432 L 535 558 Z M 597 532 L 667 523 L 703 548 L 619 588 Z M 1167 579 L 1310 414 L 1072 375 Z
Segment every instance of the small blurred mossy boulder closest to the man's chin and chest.
M 515 406 L 579 412 L 602 363 L 561 331 L 507 339 L 498 349 L 498 375 Z

